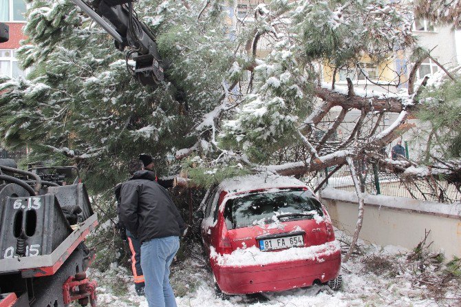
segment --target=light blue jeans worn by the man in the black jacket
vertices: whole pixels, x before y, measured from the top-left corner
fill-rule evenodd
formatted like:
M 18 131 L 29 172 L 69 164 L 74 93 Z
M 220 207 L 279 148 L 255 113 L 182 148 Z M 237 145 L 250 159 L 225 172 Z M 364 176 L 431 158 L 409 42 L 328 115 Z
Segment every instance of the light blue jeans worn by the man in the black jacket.
M 170 264 L 180 248 L 179 237 L 160 237 L 141 245 L 141 266 L 144 273 L 149 307 L 176 307 L 170 285 Z

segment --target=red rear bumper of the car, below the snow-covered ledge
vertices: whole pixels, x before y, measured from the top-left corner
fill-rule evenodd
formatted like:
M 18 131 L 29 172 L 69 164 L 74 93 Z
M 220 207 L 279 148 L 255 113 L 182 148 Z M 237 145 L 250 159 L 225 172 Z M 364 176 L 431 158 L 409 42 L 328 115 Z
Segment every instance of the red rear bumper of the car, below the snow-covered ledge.
M 275 292 L 328 282 L 339 275 L 341 251 L 321 260 L 296 260 L 257 266 L 212 265 L 217 284 L 224 293 Z

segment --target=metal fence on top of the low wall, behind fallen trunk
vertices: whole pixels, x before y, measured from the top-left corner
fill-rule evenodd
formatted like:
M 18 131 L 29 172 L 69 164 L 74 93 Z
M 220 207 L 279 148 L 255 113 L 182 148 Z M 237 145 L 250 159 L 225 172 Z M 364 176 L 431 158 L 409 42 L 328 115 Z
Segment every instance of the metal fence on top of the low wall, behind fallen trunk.
M 325 169 L 317 173 L 315 178 L 311 178 L 312 187 L 320 184 L 325 179 L 325 174 L 332 169 Z M 356 165 L 356 171 L 361 181 L 362 192 L 372 195 L 389 195 L 418 200 L 431 200 L 436 202 L 453 203 L 461 201 L 461 193 L 454 184 L 438 178 L 403 179 L 398 173 L 380 169 L 372 164 Z M 341 167 L 336 171 L 324 186 L 334 187 L 344 191 L 355 192 L 354 182 L 347 166 Z

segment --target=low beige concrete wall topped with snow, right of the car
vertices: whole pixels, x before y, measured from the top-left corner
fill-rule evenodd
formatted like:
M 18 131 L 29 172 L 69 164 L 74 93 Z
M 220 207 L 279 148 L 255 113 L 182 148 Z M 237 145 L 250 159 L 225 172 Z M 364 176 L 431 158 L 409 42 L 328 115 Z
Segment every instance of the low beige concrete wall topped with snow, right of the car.
M 354 233 L 358 204 L 355 193 L 326 188 L 321 191 L 323 204 L 333 224 L 346 233 Z M 412 249 L 431 231 L 427 242 L 433 251 L 442 250 L 451 259 L 461 257 L 461 204 L 441 204 L 411 198 L 366 195 L 360 238 L 381 246 Z

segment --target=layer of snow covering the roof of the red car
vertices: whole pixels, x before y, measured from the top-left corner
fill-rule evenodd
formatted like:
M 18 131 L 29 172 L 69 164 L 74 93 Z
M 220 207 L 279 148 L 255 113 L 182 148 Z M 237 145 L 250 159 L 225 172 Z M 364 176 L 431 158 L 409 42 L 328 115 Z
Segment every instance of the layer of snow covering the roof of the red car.
M 239 176 L 223 180 L 219 184 L 221 191 L 239 193 L 259 189 L 276 189 L 283 187 L 307 187 L 296 178 L 280 176 L 274 173 L 257 173 L 255 175 Z

